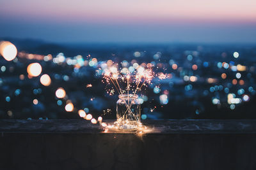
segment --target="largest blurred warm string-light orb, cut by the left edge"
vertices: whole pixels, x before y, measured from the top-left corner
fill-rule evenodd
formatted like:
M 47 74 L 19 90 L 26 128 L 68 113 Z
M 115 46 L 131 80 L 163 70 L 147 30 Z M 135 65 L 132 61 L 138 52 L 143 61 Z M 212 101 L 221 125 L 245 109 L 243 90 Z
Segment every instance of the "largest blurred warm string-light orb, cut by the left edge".
M 13 60 L 17 55 L 17 48 L 9 41 L 1 41 L 0 54 L 8 61 Z

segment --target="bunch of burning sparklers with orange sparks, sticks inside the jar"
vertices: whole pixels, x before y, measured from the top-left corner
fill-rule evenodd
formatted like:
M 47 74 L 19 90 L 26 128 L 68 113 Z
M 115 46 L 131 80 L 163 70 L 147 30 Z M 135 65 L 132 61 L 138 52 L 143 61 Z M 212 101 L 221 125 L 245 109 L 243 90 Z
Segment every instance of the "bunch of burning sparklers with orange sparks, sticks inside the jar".
M 106 83 L 108 85 L 113 85 L 113 87 L 116 89 L 120 96 L 127 97 L 127 101 L 125 99 L 122 99 L 122 102 L 125 104 L 126 109 L 124 110 L 124 113 L 122 115 L 122 120 L 118 121 L 122 121 L 122 124 L 126 124 L 127 127 L 129 127 L 129 124 L 131 124 L 131 122 L 135 121 L 140 123 L 140 118 L 138 118 L 138 115 L 135 115 L 134 111 L 131 110 L 131 106 L 134 103 L 130 102 L 130 99 L 136 99 L 136 97 L 138 97 L 137 93 L 141 91 L 143 86 L 147 86 L 147 84 L 151 83 L 152 78 L 154 78 L 155 74 L 152 71 L 152 67 L 150 67 L 150 69 L 145 69 L 145 67 L 143 66 L 138 66 L 136 67 L 136 71 L 131 73 L 128 69 L 122 68 L 120 68 L 120 70 L 118 71 L 117 67 L 115 66 L 118 66 L 118 64 L 114 66 L 111 65 L 108 68 L 104 69 L 102 75 L 104 80 L 106 80 Z M 123 86 L 126 87 L 122 89 Z M 113 87 L 111 87 L 111 90 L 108 89 L 109 94 L 113 92 Z M 120 124 L 117 122 L 116 125 L 118 127 L 118 125 Z

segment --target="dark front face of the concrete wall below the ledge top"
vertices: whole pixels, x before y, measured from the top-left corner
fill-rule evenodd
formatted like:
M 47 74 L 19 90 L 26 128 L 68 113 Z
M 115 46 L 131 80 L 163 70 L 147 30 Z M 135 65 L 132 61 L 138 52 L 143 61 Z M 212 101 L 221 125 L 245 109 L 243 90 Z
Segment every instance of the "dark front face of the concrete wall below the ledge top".
M 159 132 L 140 137 L 13 130 L 0 127 L 0 169 L 256 169 L 252 132 Z

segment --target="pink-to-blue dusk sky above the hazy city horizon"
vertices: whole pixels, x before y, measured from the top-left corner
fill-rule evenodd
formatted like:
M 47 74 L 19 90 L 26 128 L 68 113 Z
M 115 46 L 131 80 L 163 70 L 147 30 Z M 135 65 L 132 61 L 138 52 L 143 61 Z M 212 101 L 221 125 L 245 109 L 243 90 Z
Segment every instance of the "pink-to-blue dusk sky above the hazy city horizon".
M 256 43 L 255 0 L 0 0 L 0 37 Z

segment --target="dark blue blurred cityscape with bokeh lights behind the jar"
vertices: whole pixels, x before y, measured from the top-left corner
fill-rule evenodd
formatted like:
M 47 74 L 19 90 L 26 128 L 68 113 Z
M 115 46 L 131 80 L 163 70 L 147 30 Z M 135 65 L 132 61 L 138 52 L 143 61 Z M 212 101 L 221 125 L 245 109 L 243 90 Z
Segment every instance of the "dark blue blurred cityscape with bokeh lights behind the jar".
M 130 72 L 148 64 L 157 70 L 158 76 L 140 92 L 142 119 L 256 118 L 252 44 L 0 41 L 10 41 L 18 50 L 12 61 L 0 57 L 0 118 L 81 118 L 79 110 L 115 118 L 118 94 L 109 96 L 97 72 L 115 63 Z M 29 67 L 42 72 L 33 75 Z

